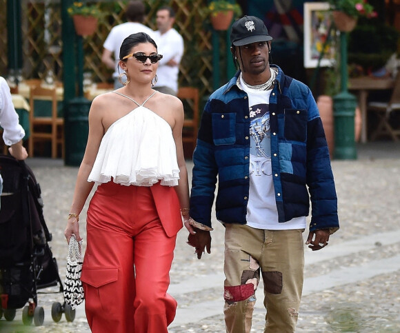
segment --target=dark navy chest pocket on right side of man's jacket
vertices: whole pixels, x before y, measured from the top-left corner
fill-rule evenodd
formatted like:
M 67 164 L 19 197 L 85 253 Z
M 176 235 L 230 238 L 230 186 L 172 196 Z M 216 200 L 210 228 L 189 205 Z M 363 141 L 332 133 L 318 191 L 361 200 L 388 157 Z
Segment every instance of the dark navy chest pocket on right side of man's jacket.
M 285 109 L 285 139 L 306 142 L 307 110 Z

